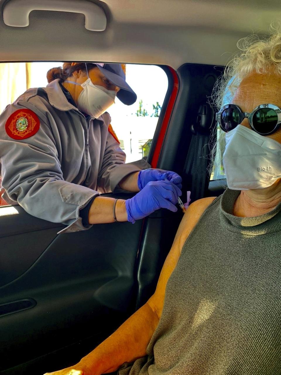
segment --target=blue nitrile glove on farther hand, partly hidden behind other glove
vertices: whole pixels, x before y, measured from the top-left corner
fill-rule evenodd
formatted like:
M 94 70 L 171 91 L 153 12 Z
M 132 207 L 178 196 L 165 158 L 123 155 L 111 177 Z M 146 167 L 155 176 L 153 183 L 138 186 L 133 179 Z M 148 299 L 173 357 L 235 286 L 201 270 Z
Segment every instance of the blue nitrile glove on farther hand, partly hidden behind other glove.
M 164 169 L 143 169 L 138 175 L 138 187 L 142 190 L 149 181 L 163 181 L 168 180 L 181 189 L 181 176 L 172 171 L 165 171 Z

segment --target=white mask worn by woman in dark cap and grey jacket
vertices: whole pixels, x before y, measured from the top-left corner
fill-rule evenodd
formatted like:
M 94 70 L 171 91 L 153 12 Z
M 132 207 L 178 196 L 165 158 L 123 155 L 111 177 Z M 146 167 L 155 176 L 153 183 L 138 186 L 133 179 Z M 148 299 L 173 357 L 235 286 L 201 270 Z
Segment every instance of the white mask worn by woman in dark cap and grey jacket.
M 116 92 L 103 86 L 94 85 L 90 78 L 81 84 L 82 92 L 78 97 L 78 110 L 98 118 L 115 103 Z

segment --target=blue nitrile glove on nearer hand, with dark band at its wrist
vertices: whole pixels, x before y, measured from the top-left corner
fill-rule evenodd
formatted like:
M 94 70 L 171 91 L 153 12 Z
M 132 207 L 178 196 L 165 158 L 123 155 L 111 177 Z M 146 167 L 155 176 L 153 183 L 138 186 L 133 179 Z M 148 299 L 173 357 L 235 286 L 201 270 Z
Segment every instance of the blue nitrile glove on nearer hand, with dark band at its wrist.
M 175 204 L 179 195 L 181 190 L 170 181 L 148 182 L 138 194 L 125 202 L 128 221 L 134 223 L 159 208 L 176 212 L 178 209 Z

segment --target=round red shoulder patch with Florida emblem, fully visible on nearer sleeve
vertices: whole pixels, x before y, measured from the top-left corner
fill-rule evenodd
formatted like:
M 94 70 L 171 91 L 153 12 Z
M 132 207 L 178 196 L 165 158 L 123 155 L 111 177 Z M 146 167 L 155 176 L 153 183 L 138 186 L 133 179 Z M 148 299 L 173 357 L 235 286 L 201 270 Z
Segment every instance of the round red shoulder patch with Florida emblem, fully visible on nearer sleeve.
M 28 109 L 17 110 L 10 115 L 5 124 L 7 135 L 13 139 L 26 139 L 38 132 L 40 120 Z

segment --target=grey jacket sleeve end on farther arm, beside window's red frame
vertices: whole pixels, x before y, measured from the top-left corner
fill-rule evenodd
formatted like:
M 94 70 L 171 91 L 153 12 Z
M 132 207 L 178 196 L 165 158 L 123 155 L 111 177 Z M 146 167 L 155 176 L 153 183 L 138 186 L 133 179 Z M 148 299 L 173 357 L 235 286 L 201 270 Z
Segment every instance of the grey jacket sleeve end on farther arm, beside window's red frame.
M 109 177 L 111 191 L 114 192 L 116 188 L 118 189 L 117 185 L 127 175 L 133 172 L 139 172 L 142 169 L 148 169 L 148 168 L 151 168 L 151 165 L 148 164 L 144 159 L 136 160 L 135 162 L 132 162 L 132 163 L 117 165 L 115 168 L 112 169 L 110 173 L 110 177 Z

